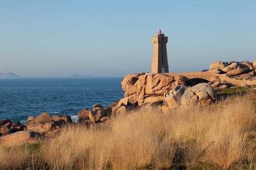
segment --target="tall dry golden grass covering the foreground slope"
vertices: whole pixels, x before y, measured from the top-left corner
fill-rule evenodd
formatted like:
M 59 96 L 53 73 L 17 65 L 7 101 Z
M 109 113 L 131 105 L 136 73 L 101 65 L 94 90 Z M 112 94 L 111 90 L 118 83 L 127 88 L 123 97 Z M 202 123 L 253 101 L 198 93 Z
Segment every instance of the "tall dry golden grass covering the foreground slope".
M 255 100 L 252 93 L 168 114 L 120 116 L 104 128 L 70 126 L 42 143 L 33 161 L 26 147 L 0 147 L 0 167 L 255 169 Z

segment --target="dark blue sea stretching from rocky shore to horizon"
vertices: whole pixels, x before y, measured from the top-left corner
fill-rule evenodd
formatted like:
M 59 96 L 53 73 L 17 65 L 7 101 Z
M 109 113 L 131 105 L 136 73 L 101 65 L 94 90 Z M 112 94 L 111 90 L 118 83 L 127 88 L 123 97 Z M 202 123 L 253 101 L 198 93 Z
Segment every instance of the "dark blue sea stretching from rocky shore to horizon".
M 28 116 L 48 112 L 70 115 L 80 109 L 104 107 L 123 97 L 123 78 L 0 79 L 0 119 L 27 122 Z

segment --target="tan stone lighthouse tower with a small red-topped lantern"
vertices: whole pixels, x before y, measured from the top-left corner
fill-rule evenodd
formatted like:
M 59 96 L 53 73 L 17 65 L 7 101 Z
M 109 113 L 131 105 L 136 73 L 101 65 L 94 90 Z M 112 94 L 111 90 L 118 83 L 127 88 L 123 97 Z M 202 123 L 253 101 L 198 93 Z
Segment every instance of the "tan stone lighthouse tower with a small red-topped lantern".
M 166 43 L 168 37 L 161 34 L 161 29 L 159 33 L 152 37 L 153 43 L 153 59 L 152 59 L 152 73 L 165 73 L 169 72 L 168 61 L 167 61 L 167 51 Z

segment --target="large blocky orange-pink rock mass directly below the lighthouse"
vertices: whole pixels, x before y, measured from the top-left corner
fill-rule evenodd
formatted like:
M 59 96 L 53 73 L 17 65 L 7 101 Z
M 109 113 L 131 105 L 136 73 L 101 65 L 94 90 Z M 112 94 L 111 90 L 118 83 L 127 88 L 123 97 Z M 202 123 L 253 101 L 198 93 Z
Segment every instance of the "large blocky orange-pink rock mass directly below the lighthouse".
M 124 98 L 118 103 L 125 106 L 144 103 L 152 103 L 163 100 L 163 94 L 177 85 L 185 85 L 183 76 L 171 77 L 165 74 L 131 74 L 124 77 L 122 81 Z

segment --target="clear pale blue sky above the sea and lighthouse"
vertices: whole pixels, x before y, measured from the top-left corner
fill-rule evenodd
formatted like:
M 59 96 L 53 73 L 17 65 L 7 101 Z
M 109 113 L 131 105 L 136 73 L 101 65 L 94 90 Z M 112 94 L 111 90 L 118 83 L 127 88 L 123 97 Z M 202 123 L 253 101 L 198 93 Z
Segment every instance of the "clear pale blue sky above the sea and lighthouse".
M 23 77 L 150 72 L 168 36 L 170 72 L 256 60 L 256 1 L 1 1 L 0 72 Z

